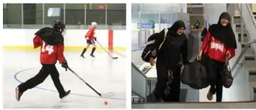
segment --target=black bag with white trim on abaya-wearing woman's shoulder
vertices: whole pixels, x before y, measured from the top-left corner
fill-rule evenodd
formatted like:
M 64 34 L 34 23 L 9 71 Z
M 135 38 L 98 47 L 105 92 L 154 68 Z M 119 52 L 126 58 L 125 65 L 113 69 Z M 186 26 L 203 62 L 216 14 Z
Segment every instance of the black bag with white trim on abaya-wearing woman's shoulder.
M 166 38 L 167 31 L 168 30 L 165 29 L 165 38 Z M 157 58 L 157 51 L 161 49 L 162 44 L 164 44 L 164 42 L 165 42 L 165 38 L 164 38 L 163 42 L 159 45 L 159 49 L 154 50 L 153 45 L 154 45 L 156 37 L 158 37 L 158 36 L 159 36 L 159 33 L 156 33 L 156 34 L 152 34 L 151 36 L 148 37 L 148 42 L 146 43 L 146 47 L 141 54 L 142 60 L 144 60 L 147 63 L 149 63 L 149 60 L 151 57 L 154 59 Z

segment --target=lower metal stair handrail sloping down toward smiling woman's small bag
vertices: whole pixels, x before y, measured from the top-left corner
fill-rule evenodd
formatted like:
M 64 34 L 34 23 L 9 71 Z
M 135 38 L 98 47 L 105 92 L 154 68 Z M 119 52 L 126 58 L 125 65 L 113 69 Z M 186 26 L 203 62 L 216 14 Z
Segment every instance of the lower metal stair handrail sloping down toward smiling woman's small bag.
M 238 65 L 238 63 L 240 62 L 241 58 L 243 58 L 246 50 L 249 48 L 249 46 L 251 44 L 254 44 L 256 43 L 256 39 L 252 40 L 251 42 L 246 42 L 246 43 L 241 43 L 241 44 L 244 44 L 245 47 L 244 47 L 244 50 L 242 50 L 241 54 L 238 56 L 236 62 L 234 63 L 234 65 L 232 66 L 231 68 L 231 73 L 235 70 L 236 66 Z M 235 77 L 237 74 L 235 74 L 233 77 Z

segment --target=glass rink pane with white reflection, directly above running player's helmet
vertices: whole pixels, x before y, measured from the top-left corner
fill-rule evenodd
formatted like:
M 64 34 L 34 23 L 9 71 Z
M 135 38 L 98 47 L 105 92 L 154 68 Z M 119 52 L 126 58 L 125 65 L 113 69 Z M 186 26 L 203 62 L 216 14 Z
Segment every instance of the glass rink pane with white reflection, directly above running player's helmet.
M 60 11 L 57 12 L 59 13 L 59 16 L 48 16 L 48 9 L 50 8 L 59 8 Z M 51 14 L 56 14 L 56 11 L 53 10 L 53 13 Z M 51 15 L 50 14 L 50 15 Z M 44 15 L 45 15 L 45 25 L 51 25 L 54 20 L 61 20 L 63 21 L 64 19 L 64 4 L 45 4 L 45 9 L 44 9 Z

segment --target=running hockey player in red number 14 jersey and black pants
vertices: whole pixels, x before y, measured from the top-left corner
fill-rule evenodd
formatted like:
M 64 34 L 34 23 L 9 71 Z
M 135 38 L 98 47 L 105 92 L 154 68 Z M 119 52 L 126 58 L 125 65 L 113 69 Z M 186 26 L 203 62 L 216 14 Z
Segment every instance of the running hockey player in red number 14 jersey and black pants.
M 64 33 L 64 29 L 65 24 L 56 20 L 53 22 L 53 28 L 41 28 L 37 33 L 35 33 L 35 37 L 33 39 L 34 48 L 41 47 L 40 62 L 42 64 L 42 68 L 36 76 L 21 83 L 15 88 L 17 101 L 20 101 L 21 95 L 23 95 L 26 90 L 32 89 L 44 82 L 49 74 L 59 92 L 59 98 L 63 99 L 69 95 L 70 90 L 67 92 L 64 90 L 59 79 L 59 71 L 55 66 L 57 60 L 59 60 L 59 63 L 61 63 L 61 66 L 65 68 L 66 71 L 68 68 L 67 60 L 65 60 L 63 55 L 64 37 L 62 34 Z

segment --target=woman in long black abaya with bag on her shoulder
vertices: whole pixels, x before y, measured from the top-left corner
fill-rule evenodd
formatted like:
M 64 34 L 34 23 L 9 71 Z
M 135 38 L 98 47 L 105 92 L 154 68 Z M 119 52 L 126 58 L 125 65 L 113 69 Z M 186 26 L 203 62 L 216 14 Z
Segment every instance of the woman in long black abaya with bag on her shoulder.
M 179 102 L 181 90 L 181 55 L 187 63 L 187 36 L 185 24 L 176 21 L 167 29 L 167 37 L 157 53 L 157 84 L 154 90 L 154 101 Z M 155 41 L 155 48 L 164 40 L 165 31 L 161 31 Z M 154 64 L 154 58 L 150 60 Z

